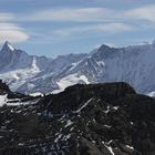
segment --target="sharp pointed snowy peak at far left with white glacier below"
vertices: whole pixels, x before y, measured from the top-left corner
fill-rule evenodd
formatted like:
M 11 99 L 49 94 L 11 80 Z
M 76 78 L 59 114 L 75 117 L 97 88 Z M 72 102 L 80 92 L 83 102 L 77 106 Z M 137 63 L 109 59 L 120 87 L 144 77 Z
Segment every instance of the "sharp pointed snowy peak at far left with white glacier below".
M 29 55 L 6 42 L 0 52 L 0 79 L 7 82 L 11 90 L 18 91 L 25 82 L 46 69 L 51 61 L 44 56 Z

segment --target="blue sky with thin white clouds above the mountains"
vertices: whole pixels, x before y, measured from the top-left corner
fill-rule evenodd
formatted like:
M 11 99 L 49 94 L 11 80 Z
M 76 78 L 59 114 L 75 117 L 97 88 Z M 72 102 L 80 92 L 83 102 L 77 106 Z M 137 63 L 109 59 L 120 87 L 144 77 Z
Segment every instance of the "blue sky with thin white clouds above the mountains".
M 0 44 L 30 54 L 90 52 L 155 39 L 154 0 L 0 0 Z

